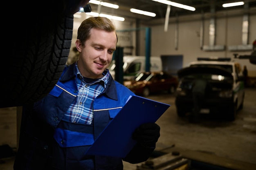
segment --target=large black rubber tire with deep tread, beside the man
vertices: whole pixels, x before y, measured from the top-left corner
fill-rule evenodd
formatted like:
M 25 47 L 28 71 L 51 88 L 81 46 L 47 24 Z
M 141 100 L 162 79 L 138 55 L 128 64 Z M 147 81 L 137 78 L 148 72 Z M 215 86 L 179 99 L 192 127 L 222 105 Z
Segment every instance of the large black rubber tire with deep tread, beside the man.
M 38 101 L 52 90 L 70 52 L 73 11 L 69 12 L 73 7 L 68 5 L 80 1 L 11 1 L 18 19 L 3 20 L 7 26 L 3 49 L 8 53 L 0 69 L 0 108 Z

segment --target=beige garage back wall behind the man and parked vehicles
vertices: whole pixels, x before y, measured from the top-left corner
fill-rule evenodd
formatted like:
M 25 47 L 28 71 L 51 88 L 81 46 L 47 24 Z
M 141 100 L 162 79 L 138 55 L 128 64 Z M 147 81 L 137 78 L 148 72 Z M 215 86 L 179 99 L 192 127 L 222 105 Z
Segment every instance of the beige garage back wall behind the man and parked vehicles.
M 256 11 L 256 8 L 253 9 Z M 200 38 L 203 36 L 203 45 L 209 45 L 209 19 L 210 15 L 205 14 L 204 19 L 202 16 L 186 16 L 184 18 L 170 18 L 168 24 L 168 30 L 164 31 L 164 20 L 161 20 L 158 24 L 153 24 L 153 22 L 144 22 L 139 24 L 134 20 L 119 22 L 113 21 L 116 25 L 117 30 L 129 30 L 132 33 L 117 32 L 119 37 L 117 46 L 133 46 L 133 49 L 128 50 L 135 55 L 137 49 L 137 55 L 145 55 L 145 29 L 139 29 L 139 40 L 136 42 L 136 34 L 134 29 L 137 28 L 151 28 L 151 56 L 161 56 L 161 55 L 182 55 L 183 63 L 182 66 L 187 66 L 189 62 L 195 61 L 197 57 L 231 57 L 234 58 L 234 53 L 239 55 L 250 55 L 250 51 L 229 51 L 228 46 L 241 45 L 242 44 L 242 22 L 243 13 L 241 11 L 232 11 L 232 13 L 237 13 L 236 15 L 229 15 L 229 12 L 218 13 L 216 15 L 216 41 L 215 45 L 225 46 L 225 50 L 222 51 L 203 51 L 202 44 L 200 44 Z M 76 32 L 80 23 L 88 17 L 85 13 L 79 14 L 81 18 L 74 18 L 74 32 L 72 46 L 76 40 Z M 203 34 L 200 34 L 201 24 L 203 25 Z M 175 32 L 177 31 L 177 32 Z M 177 33 L 177 39 L 175 39 L 175 33 Z M 130 36 L 130 38 L 128 37 Z M 256 39 L 256 13 L 249 14 L 249 37 L 248 44 Z M 177 44 L 175 44 L 177 40 Z M 136 45 L 137 44 L 137 45 Z M 71 47 L 72 48 L 72 47 Z M 70 51 L 70 55 L 72 51 Z M 248 69 L 248 75 L 256 77 L 256 65 L 249 63 L 249 60 L 239 60 L 234 59 L 241 63 L 241 65 L 246 65 Z

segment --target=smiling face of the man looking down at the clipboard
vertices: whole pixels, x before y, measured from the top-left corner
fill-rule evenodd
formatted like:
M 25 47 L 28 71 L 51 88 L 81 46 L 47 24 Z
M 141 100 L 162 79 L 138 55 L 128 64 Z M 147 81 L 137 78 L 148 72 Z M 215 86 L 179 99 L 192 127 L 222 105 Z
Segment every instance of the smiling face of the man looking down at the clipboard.
M 76 46 L 80 52 L 78 68 L 83 77 L 101 78 L 102 73 L 109 66 L 113 52 L 116 49 L 116 33 L 101 29 L 92 29 L 90 39 L 82 46 L 79 40 Z

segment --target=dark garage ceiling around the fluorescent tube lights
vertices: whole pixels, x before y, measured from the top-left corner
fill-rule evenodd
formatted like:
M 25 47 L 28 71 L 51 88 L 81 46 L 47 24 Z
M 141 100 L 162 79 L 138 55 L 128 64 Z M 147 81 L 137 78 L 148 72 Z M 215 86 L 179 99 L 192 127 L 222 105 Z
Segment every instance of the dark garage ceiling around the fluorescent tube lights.
M 111 9 L 108 7 L 101 6 L 99 10 L 98 5 L 91 4 L 92 11 L 95 11 L 95 12 L 100 11 L 100 13 L 121 16 L 121 17 L 124 17 L 126 20 L 129 18 L 139 19 L 142 21 L 161 19 L 161 18 L 165 18 L 166 10 L 167 10 L 166 4 L 155 2 L 153 0 L 101 0 L 101 1 L 117 4 L 119 5 L 119 9 Z M 251 7 L 256 7 L 256 0 L 245 0 L 244 1 L 245 5 L 242 5 L 242 6 L 228 7 L 228 8 L 222 7 L 223 3 L 229 3 L 234 1 L 235 0 L 173 0 L 173 2 L 195 7 L 195 11 L 189 11 L 186 9 L 181 9 L 181 8 L 171 6 L 169 16 L 175 17 L 175 16 L 184 16 L 184 15 L 191 15 L 191 14 L 209 13 L 211 12 L 211 7 L 213 7 L 212 9 L 214 9 L 216 12 L 227 10 L 227 9 L 244 10 L 247 7 L 246 4 L 248 4 L 247 9 Z M 150 17 L 150 16 L 131 13 L 130 8 L 135 8 L 143 11 L 156 13 L 156 17 Z

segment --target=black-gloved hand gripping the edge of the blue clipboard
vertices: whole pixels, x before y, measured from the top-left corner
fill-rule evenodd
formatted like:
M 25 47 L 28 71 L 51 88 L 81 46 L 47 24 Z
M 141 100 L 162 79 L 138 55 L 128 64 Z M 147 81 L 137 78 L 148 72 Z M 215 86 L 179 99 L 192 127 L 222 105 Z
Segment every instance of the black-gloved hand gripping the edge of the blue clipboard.
M 155 123 L 141 124 L 132 134 L 132 139 L 137 140 L 141 146 L 155 147 L 160 137 L 160 126 Z

